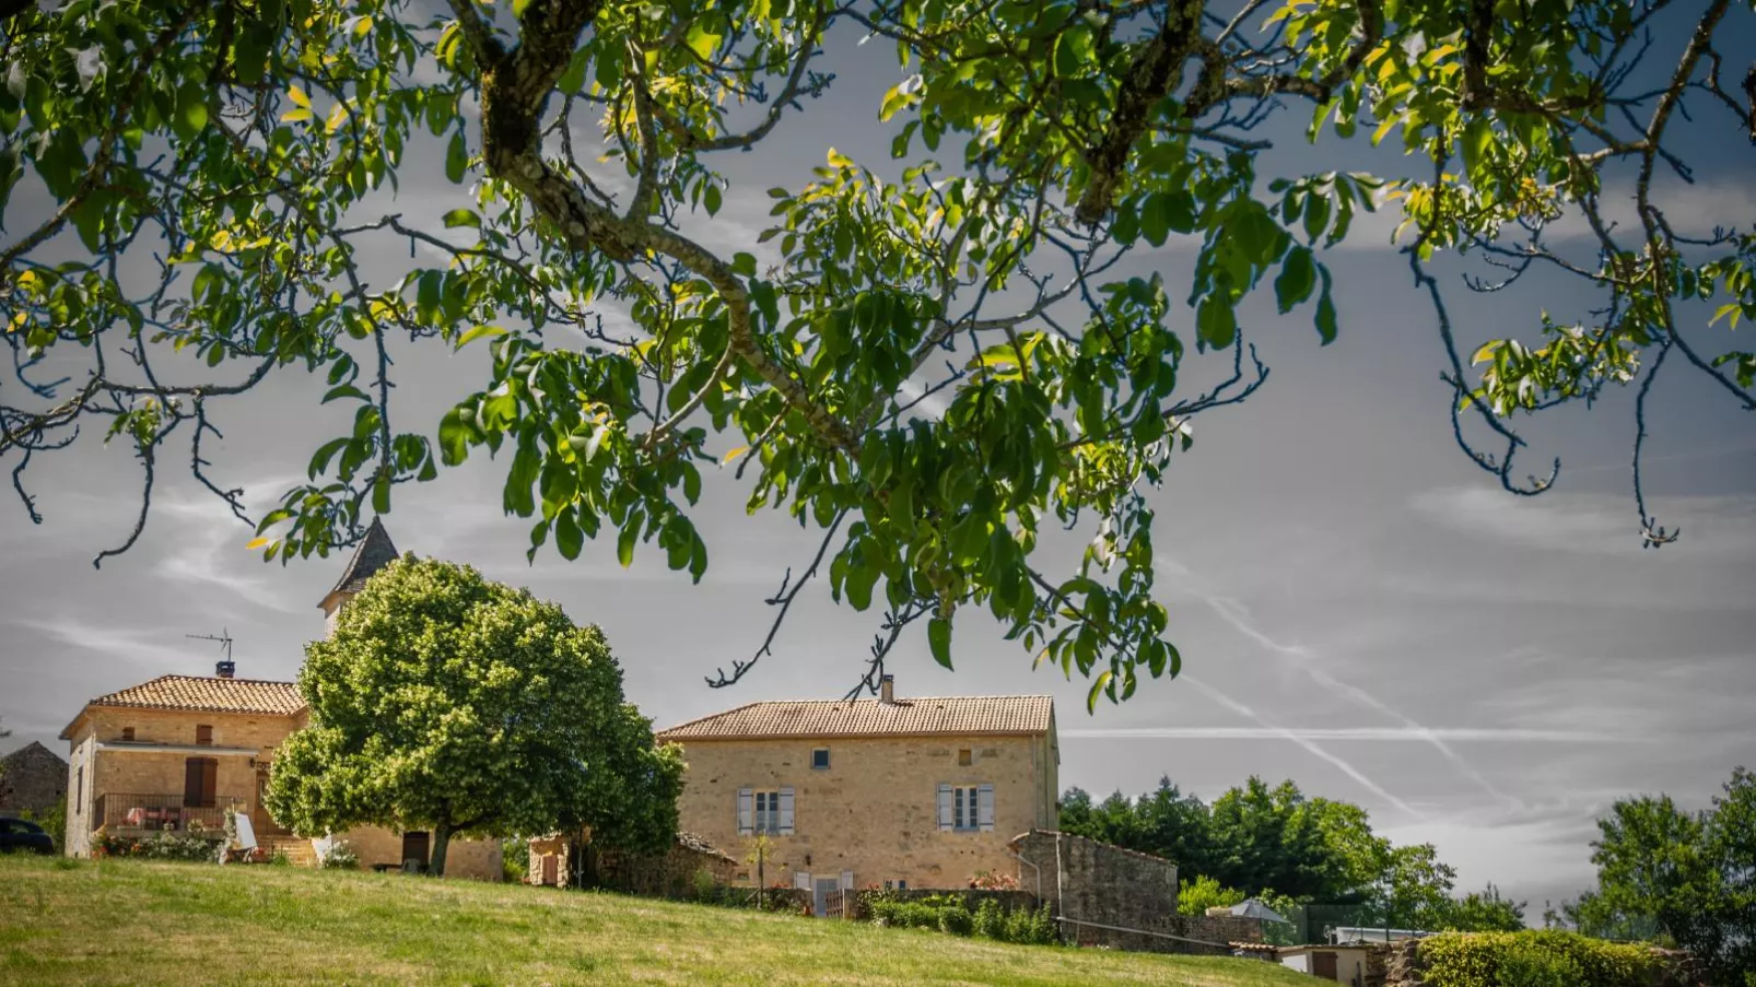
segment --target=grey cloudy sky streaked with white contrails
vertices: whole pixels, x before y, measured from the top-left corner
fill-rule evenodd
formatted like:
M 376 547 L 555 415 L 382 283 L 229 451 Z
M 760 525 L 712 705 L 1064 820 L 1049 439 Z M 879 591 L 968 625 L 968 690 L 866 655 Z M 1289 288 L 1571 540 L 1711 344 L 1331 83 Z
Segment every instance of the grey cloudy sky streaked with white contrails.
M 1756 42 L 1752 14 L 1740 5 L 1731 18 L 1731 40 Z M 853 40 L 831 51 L 829 97 L 760 151 L 715 162 L 734 184 L 720 218 L 701 227 L 709 244 L 748 248 L 766 225 L 762 190 L 806 181 L 829 146 L 890 167 L 890 128 L 874 111 L 896 79 L 892 53 Z M 1659 51 L 1675 49 L 1663 40 Z M 1352 146 L 1305 148 L 1303 114 L 1292 109 L 1275 130 L 1275 167 L 1401 167 Z M 1717 119 L 1717 130 L 1682 132 L 1700 181 L 1666 195 L 1686 228 L 1756 220 L 1756 151 Z M 437 176 L 439 155 L 428 158 L 411 163 L 392 209 L 437 228 L 464 193 Z M 1162 270 L 1178 295 L 1192 258 L 1173 241 L 1131 272 Z M 1213 797 L 1252 773 L 1294 778 L 1308 794 L 1364 804 L 1398 841 L 1431 839 L 1465 885 L 1493 880 L 1540 911 L 1591 882 L 1593 818 L 1612 799 L 1666 790 L 1705 804 L 1733 766 L 1756 764 L 1752 416 L 1682 372 L 1656 385 L 1647 492 L 1659 522 L 1684 536 L 1642 551 L 1631 393 L 1535 425 L 1531 460 L 1561 455 L 1559 486 L 1505 495 L 1450 443 L 1431 309 L 1387 228 L 1368 225 L 1326 260 L 1342 339 L 1319 348 L 1305 313 L 1278 318 L 1252 300 L 1245 325 L 1273 367 L 1268 386 L 1201 418 L 1194 450 L 1154 494 L 1180 680 L 1145 683 L 1127 704 L 1087 717 L 1083 683 L 1033 673 L 1029 655 L 975 613 L 959 623 L 955 673 L 920 638 L 890 667 L 913 695 L 1054 694 L 1064 785 L 1140 792 L 1169 774 Z M 393 277 L 399 263 L 406 255 L 386 253 L 376 276 Z M 1538 309 L 1566 318 L 1594 302 L 1556 277 L 1472 297 L 1459 270 L 1447 277 L 1466 344 L 1529 337 Z M 393 423 L 432 432 L 485 379 L 485 355 L 399 353 Z M 346 413 L 316 407 L 320 393 L 321 381 L 284 378 L 227 411 L 227 441 L 212 450 L 221 479 L 256 504 L 300 479 L 311 450 L 346 429 Z M 186 476 L 162 472 L 140 544 L 102 571 L 91 557 L 123 537 L 139 506 L 126 450 L 83 439 L 72 455 L 40 457 L 28 474 L 40 527 L 0 504 L 7 743 L 61 748 L 54 734 L 84 699 L 211 671 L 214 650 L 184 634 L 227 627 L 239 674 L 290 678 L 302 643 L 321 632 L 316 602 L 342 560 L 263 566 L 244 550 L 249 529 Z M 502 478 L 504 464 L 476 457 L 399 488 L 392 537 L 602 625 L 630 697 L 658 725 L 757 699 L 841 695 L 859 676 L 873 620 L 817 587 L 741 685 L 702 685 L 753 652 L 769 620 L 764 597 L 815 548 L 785 516 L 746 516 L 729 472 L 709 478 L 695 513 L 711 550 L 699 587 L 657 553 L 623 571 L 604 543 L 576 564 L 544 553 L 527 566 L 529 522 L 502 516 Z

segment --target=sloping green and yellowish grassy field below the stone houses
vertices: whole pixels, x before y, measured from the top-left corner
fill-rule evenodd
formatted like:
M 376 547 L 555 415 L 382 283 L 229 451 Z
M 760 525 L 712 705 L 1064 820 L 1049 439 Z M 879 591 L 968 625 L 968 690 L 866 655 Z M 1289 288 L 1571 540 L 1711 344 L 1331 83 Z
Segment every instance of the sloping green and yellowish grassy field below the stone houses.
M 1259 961 L 939 933 L 402 875 L 0 857 L 0 985 L 1171 983 Z

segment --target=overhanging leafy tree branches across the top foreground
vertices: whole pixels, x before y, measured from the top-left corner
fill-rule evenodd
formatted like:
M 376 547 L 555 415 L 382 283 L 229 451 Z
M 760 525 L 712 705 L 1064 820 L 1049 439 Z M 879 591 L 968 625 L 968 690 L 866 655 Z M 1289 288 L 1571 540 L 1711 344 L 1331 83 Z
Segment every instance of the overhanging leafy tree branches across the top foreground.
M 1245 299 L 1271 292 L 1336 335 L 1322 251 L 1382 197 L 1431 295 L 1456 437 L 1508 490 L 1554 483 L 1521 479 L 1519 413 L 1640 381 L 1638 479 L 1661 371 L 1756 407 L 1756 355 L 1700 325 L 1703 299 L 1724 323 L 1756 316 L 1756 235 L 1689 239 L 1654 184 L 1688 176 L 1689 112 L 1751 130 L 1716 47 L 1747 14 L 1747 0 L 450 0 L 437 16 L 397 0 L 7 0 L 0 304 L 25 371 L 0 400 L 0 457 L 35 518 L 23 469 L 107 429 L 148 483 L 126 546 L 186 443 L 179 457 L 242 516 L 209 458 L 221 407 L 270 376 L 318 374 L 356 413 L 309 483 L 251 518 L 270 558 L 358 537 L 399 483 L 486 446 L 506 455 L 504 506 L 534 520 L 532 551 L 572 558 L 604 536 L 627 562 L 657 543 L 701 578 L 690 504 L 704 469 L 736 464 L 752 509 L 824 536 L 780 613 L 811 578 L 883 611 L 862 687 L 911 622 L 950 664 L 955 615 L 987 608 L 1089 674 L 1092 701 L 1126 697 L 1180 664 L 1143 490 L 1192 416 L 1264 381 Z M 832 51 L 862 35 L 906 72 L 871 93 L 901 167 L 825 149 L 813 181 L 769 191 L 773 228 L 709 249 L 699 230 L 729 191 L 715 162 L 794 126 Z M 1308 114 L 1312 140 L 1400 137 L 1415 165 L 1394 181 L 1264 174 L 1261 125 L 1282 107 Z M 457 188 L 409 216 L 388 193 L 421 155 Z M 1628 197 L 1635 214 L 1616 221 Z M 1563 218 L 1593 249 L 1551 244 Z M 1199 244 L 1189 283 L 1117 274 L 1171 237 Z M 386 246 L 435 260 L 374 279 L 367 258 Z M 1531 313 L 1528 342 L 1465 353 L 1429 270 L 1440 251 L 1579 277 L 1601 306 L 1572 323 Z M 392 349 L 411 341 L 492 346 L 488 379 L 437 423 L 393 407 Z M 1196 349 L 1234 372 L 1192 390 Z M 924 388 L 943 414 L 918 409 Z M 1635 494 L 1642 537 L 1672 539 Z M 1045 569 L 1048 523 L 1089 539 L 1075 571 Z

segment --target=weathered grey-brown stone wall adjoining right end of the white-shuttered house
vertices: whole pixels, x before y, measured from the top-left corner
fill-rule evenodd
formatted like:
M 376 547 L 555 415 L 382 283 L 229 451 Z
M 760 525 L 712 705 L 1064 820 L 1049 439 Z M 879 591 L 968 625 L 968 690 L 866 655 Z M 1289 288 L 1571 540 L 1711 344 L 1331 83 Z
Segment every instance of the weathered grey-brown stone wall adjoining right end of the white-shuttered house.
M 1083 836 L 1033 829 L 1011 841 L 1018 887 L 1054 906 L 1069 943 L 1227 955 L 1261 941 L 1256 919 L 1177 913 L 1177 864 Z

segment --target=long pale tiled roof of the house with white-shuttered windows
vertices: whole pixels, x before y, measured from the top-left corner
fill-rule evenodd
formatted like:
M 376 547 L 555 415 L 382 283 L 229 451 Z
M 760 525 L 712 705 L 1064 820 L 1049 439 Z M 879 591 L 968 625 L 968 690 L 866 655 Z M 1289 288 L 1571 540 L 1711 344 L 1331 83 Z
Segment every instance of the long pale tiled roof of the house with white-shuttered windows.
M 1043 734 L 1054 722 L 1048 695 L 948 695 L 788 699 L 752 702 L 658 734 L 662 741 L 743 738 L 864 738 L 929 734 Z

